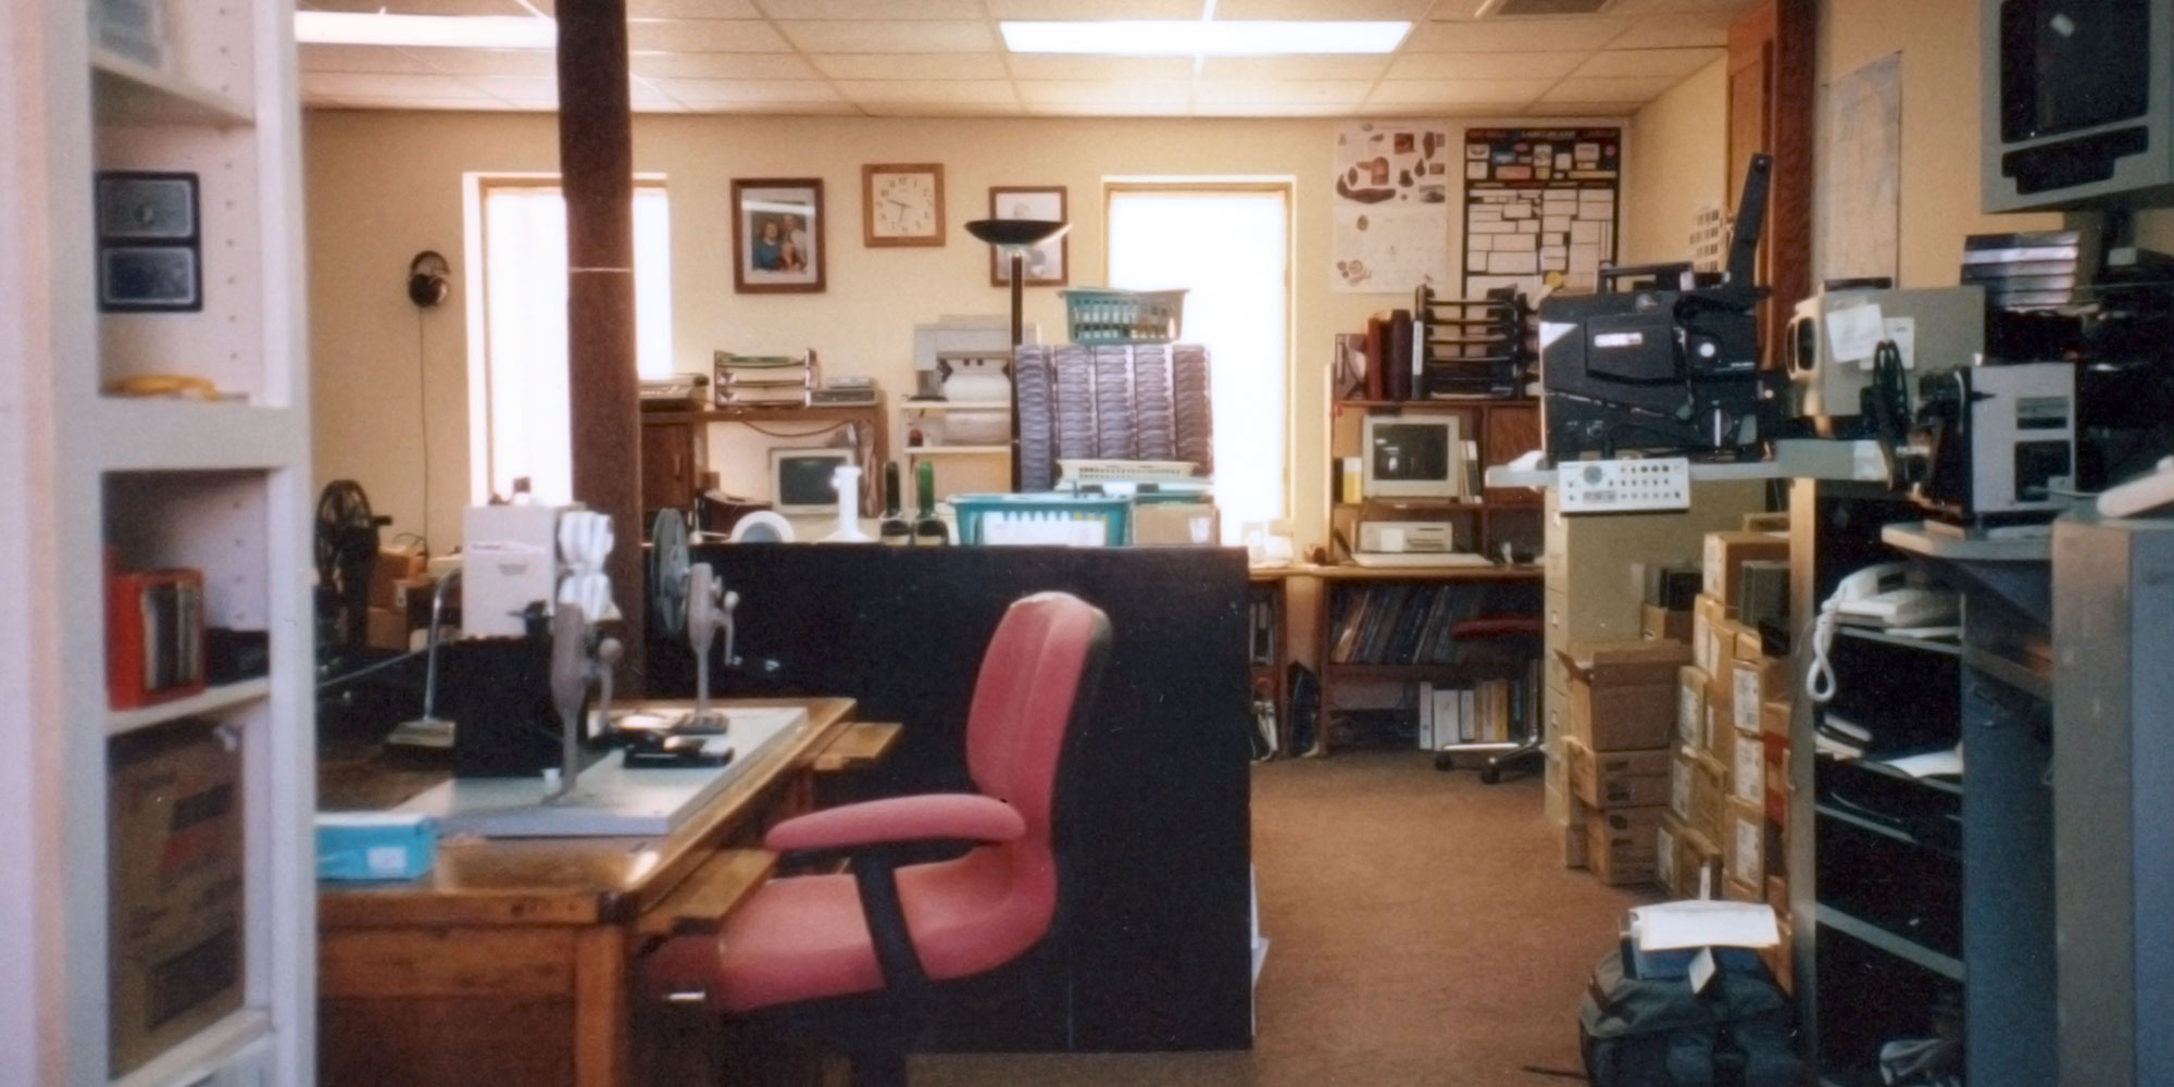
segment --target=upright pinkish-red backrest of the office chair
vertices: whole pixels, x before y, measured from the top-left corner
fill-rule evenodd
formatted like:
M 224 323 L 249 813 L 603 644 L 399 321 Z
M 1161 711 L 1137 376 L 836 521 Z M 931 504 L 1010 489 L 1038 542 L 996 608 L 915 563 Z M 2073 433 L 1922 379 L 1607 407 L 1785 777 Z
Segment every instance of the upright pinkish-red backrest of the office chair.
M 965 761 L 974 785 L 1026 817 L 1028 839 L 1048 841 L 1065 730 L 1109 646 L 1109 617 L 1072 594 L 1015 600 L 974 678 Z

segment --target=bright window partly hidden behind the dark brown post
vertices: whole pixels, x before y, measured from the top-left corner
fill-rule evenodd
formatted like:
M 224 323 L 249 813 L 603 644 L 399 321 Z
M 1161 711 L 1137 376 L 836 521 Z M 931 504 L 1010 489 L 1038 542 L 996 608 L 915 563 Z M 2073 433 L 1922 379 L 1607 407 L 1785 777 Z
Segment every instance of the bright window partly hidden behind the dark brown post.
M 483 178 L 480 352 L 467 380 L 472 498 L 574 498 L 565 376 L 565 196 L 550 178 Z M 661 180 L 635 185 L 635 365 L 672 374 L 672 215 Z

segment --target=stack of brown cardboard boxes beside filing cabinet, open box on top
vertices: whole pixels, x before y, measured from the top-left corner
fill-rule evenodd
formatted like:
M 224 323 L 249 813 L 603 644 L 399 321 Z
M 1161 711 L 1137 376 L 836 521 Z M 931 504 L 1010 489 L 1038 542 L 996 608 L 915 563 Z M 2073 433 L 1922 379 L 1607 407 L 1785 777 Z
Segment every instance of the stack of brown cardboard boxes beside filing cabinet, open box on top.
M 1572 824 L 1585 826 L 1585 857 L 1565 863 L 1583 861 L 1602 883 L 1652 883 L 1659 874 L 1654 833 L 1667 804 L 1674 676 L 1689 652 L 1678 641 L 1637 639 L 1585 641 L 1561 657 Z

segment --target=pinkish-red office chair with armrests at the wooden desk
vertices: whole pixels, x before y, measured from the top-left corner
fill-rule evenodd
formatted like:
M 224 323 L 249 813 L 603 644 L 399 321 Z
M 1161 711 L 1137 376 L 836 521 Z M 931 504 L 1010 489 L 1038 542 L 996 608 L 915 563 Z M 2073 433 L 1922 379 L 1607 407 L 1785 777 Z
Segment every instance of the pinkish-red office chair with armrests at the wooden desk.
M 652 991 L 707 991 L 730 1015 L 763 1013 L 826 1035 L 854 1083 L 902 1085 L 930 983 L 996 970 L 1041 944 L 1059 915 L 1052 835 L 1065 735 L 1091 702 L 1109 617 L 1070 594 L 1011 604 L 974 680 L 965 757 L 978 794 L 870 800 L 785 820 L 778 852 L 846 854 L 852 874 L 780 876 L 713 937 L 659 948 Z M 972 844 L 904 863 L 902 848 Z

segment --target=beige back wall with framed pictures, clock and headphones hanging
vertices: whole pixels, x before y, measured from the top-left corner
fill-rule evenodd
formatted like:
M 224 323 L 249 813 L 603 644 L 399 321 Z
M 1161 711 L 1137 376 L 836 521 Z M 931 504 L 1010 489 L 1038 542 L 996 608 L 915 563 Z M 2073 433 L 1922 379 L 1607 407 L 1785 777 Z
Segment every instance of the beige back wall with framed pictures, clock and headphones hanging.
M 1502 122 L 1470 122 L 1502 124 Z M 1548 124 L 1578 124 L 1548 120 Z M 307 117 L 311 352 L 320 478 L 357 478 L 372 502 L 415 530 L 422 509 L 420 400 L 430 413 L 430 537 L 459 533 L 467 500 L 467 337 L 459 302 L 422 317 L 402 293 L 409 259 L 435 248 L 452 259 L 461 298 L 465 172 L 550 172 L 548 115 L 359 113 Z M 1328 217 L 1335 122 L 1291 120 L 865 120 L 661 117 L 635 122 L 635 167 L 665 174 L 672 191 L 674 339 L 685 370 L 707 370 L 713 348 L 817 348 L 826 367 L 872 374 L 894 396 L 911 389 L 911 328 L 944 313 L 1004 313 L 989 285 L 987 248 L 959 228 L 987 211 L 991 185 L 1070 189 L 1072 283 L 1102 283 L 1102 180 L 1111 176 L 1280 176 L 1296 180 L 1294 517 L 1300 541 L 1322 537 L 1324 383 L 1333 333 L 1404 304 L 1402 293 L 1328 291 Z M 1635 148 L 1635 141 L 1630 141 Z M 946 170 L 944 248 L 861 246 L 861 163 L 939 161 Z M 730 272 L 730 178 L 820 176 L 828 289 L 811 296 L 737 296 Z M 1454 204 L 1452 204 L 1454 207 Z M 1454 237 L 1452 254 L 1461 252 Z M 1030 289 L 1026 315 L 1063 335 L 1052 289 Z

